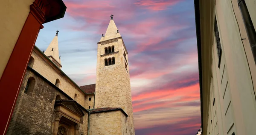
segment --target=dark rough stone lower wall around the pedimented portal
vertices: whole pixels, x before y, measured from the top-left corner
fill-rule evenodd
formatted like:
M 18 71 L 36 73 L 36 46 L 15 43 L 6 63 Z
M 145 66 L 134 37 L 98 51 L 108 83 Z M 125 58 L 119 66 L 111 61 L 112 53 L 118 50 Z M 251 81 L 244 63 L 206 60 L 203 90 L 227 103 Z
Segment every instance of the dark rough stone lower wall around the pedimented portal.
M 29 77 L 35 79 L 32 94 L 24 93 Z M 58 88 L 33 71 L 26 70 L 15 109 L 6 135 L 52 135 L 55 119 L 54 104 L 57 95 L 61 99 L 71 99 Z M 85 114 L 80 132 L 87 134 L 87 118 Z M 85 135 L 85 134 L 84 134 Z

